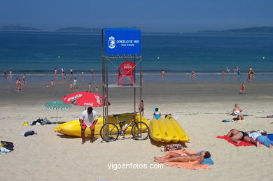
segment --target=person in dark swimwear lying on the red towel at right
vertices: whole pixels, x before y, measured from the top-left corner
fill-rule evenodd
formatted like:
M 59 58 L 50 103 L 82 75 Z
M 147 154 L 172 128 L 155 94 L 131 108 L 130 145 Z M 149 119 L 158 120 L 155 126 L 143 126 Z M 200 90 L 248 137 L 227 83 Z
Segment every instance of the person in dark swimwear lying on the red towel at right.
M 244 131 L 239 131 L 237 129 L 231 129 L 230 132 L 226 135 L 228 138 L 230 138 L 231 141 L 237 143 L 237 145 L 240 144 L 241 140 L 244 140 L 247 143 L 253 143 L 257 147 L 260 146 L 260 143 L 257 140 L 252 140 L 249 136 L 248 133 Z

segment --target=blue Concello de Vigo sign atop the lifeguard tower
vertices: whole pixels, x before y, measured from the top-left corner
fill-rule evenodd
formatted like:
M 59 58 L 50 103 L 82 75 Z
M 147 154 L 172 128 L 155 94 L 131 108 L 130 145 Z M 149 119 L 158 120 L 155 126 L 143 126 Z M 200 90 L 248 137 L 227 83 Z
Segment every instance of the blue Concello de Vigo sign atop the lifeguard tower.
M 141 55 L 139 29 L 103 29 L 105 55 Z

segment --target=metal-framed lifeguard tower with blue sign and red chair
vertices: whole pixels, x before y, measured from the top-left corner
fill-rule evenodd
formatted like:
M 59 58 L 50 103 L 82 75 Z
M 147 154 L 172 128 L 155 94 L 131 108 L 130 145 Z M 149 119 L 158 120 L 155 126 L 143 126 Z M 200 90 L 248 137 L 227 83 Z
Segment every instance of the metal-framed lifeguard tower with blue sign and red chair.
M 119 62 L 116 60 L 119 60 Z M 120 60 L 124 61 L 120 64 Z M 139 29 L 102 29 L 102 95 L 104 97 L 104 124 L 108 122 L 109 105 L 107 103 L 110 90 L 134 89 L 134 110 L 132 110 L 132 112 L 136 112 L 137 90 L 139 91 L 139 103 L 142 99 L 141 61 L 141 31 Z M 113 70 L 113 68 L 116 68 L 117 81 L 110 82 L 109 69 Z M 121 84 L 119 78 L 122 78 Z M 130 80 L 129 84 L 123 83 L 125 78 Z

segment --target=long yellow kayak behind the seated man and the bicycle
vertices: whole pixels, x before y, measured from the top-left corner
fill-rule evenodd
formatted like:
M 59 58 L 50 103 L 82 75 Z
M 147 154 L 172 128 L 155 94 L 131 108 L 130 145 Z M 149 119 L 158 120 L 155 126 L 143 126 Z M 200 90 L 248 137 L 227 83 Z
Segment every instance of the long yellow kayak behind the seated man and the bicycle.
M 125 122 L 125 124 L 129 124 L 131 122 L 131 120 L 128 120 L 129 118 L 132 117 L 132 113 L 124 113 L 124 114 L 119 114 L 119 115 L 109 115 L 108 118 L 108 122 L 111 122 L 113 124 L 118 124 L 118 120 L 122 121 L 122 120 L 127 120 Z M 140 121 L 140 116 L 139 114 L 137 114 L 137 122 Z M 145 118 L 142 118 L 142 122 L 148 124 L 148 121 Z M 132 130 L 132 126 L 134 123 L 132 123 L 126 130 L 126 134 L 130 134 L 131 130 Z M 95 137 L 99 137 L 99 131 L 101 130 L 103 126 L 103 119 L 102 117 L 98 118 L 98 122 L 97 124 L 94 126 L 94 135 Z M 118 129 L 120 129 L 120 126 L 118 126 Z M 76 137 L 80 137 L 80 122 L 79 120 L 74 120 L 71 122 L 66 122 L 64 124 L 60 124 L 57 125 L 54 129 L 54 131 L 59 132 L 59 133 L 63 133 L 69 136 L 76 136 Z M 85 138 L 90 138 L 91 136 L 91 131 L 89 128 L 85 129 Z

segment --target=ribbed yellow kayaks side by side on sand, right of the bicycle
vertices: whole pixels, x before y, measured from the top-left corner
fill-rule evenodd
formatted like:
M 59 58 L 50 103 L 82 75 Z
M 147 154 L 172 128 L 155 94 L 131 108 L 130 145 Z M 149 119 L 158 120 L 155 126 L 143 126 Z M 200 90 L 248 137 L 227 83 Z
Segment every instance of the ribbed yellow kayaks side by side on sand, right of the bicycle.
M 165 120 L 163 120 L 162 117 L 158 120 L 153 118 L 150 122 L 149 129 L 150 137 L 157 142 L 186 143 L 189 140 L 187 134 L 172 115 L 168 115 Z

